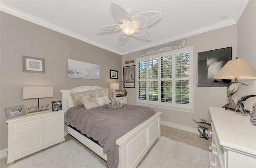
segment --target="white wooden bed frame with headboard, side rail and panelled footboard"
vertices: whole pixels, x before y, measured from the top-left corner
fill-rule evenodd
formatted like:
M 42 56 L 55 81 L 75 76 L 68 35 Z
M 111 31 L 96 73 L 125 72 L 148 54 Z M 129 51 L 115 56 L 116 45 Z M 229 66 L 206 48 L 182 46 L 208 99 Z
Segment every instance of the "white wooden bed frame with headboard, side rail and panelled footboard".
M 99 86 L 82 86 L 71 90 L 60 90 L 62 93 L 62 109 L 66 111 L 69 108 L 68 99 L 70 98 L 70 93 L 98 89 L 103 88 Z M 160 138 L 160 115 L 161 112 L 155 113 L 148 120 L 116 140 L 119 152 L 119 168 L 136 167 L 154 142 Z M 72 135 L 104 160 L 107 160 L 107 154 L 103 152 L 103 148 L 100 145 L 66 124 L 65 131 L 66 134 Z

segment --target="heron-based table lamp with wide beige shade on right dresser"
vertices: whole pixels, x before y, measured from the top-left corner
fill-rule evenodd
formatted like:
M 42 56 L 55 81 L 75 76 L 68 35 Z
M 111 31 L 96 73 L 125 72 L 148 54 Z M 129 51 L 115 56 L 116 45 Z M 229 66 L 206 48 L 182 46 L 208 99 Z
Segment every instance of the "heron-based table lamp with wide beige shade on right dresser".
M 244 59 L 236 59 L 228 61 L 214 76 L 215 79 L 234 79 L 227 87 L 227 97 L 229 106 L 225 109 L 235 111 L 236 102 L 232 99 L 233 94 L 238 91 L 239 85 L 246 85 L 246 83 L 238 80 L 256 79 L 256 71 Z

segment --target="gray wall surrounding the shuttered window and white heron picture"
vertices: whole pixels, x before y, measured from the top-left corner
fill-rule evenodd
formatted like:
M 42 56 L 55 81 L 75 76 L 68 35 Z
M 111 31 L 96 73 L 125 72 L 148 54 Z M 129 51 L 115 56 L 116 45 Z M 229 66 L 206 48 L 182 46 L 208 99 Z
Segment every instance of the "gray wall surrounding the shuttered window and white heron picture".
M 194 113 L 174 111 L 170 109 L 154 108 L 162 111 L 162 121 L 170 125 L 183 125 L 197 128 L 192 119 L 199 121 L 200 118 L 210 121 L 208 106 L 222 107 L 228 103 L 226 98 L 226 88 L 204 88 L 197 87 L 197 53 L 213 49 L 232 47 L 232 57 L 236 57 L 236 25 L 227 26 L 221 29 L 208 31 L 198 35 L 186 37 L 186 47 L 194 47 L 193 57 L 193 91 L 194 91 Z M 122 56 L 122 63 L 127 60 L 134 60 L 140 57 L 140 52 L 130 53 Z M 123 64 L 124 65 L 124 64 Z M 136 104 L 136 89 L 129 88 L 128 103 Z

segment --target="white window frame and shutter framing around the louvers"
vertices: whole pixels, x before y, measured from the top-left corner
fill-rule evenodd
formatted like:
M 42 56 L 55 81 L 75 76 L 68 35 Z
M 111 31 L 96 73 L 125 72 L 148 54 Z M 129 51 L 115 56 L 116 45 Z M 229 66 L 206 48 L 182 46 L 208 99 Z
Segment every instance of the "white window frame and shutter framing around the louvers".
M 174 103 L 175 101 L 175 80 L 178 78 L 175 78 L 175 54 L 178 53 L 186 53 L 189 52 L 189 88 L 190 88 L 190 95 L 189 95 L 189 105 L 185 105 L 185 104 L 176 104 Z M 148 83 L 149 81 L 152 81 L 152 79 L 148 79 L 148 60 L 149 59 L 154 59 L 154 58 L 158 58 L 158 72 L 161 72 L 161 57 L 164 56 L 168 56 L 168 55 L 172 55 L 172 95 L 174 95 L 174 97 L 172 98 L 173 102 L 169 103 L 169 102 L 161 102 L 161 98 L 160 96 L 158 96 L 158 101 L 151 101 L 148 100 Z M 139 79 L 138 79 L 138 69 L 139 69 L 139 61 L 145 61 L 146 60 L 146 65 L 147 65 L 147 70 L 146 70 L 146 100 L 139 100 L 138 95 L 139 95 Z M 157 107 L 157 108 L 163 108 L 163 109 L 172 109 L 172 110 L 176 110 L 176 111 L 184 111 L 184 112 L 189 112 L 189 113 L 194 113 L 194 101 L 193 101 L 193 47 L 185 47 L 182 49 L 176 49 L 176 50 L 171 50 L 171 51 L 166 51 L 163 53 L 157 53 L 154 55 L 149 55 L 149 56 L 144 56 L 144 57 L 140 57 L 136 59 L 136 104 L 138 105 L 147 105 L 147 106 L 151 106 L 151 107 Z M 158 75 L 158 79 L 156 79 L 158 81 L 161 81 L 161 75 Z M 161 93 L 161 82 L 158 82 L 158 93 Z

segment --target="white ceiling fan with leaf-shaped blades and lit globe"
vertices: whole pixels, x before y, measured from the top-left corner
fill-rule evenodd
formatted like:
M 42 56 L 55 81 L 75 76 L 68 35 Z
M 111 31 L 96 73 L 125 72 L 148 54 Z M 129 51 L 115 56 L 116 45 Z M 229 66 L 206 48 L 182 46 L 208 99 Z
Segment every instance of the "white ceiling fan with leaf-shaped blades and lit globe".
M 116 2 L 111 2 L 110 6 L 114 16 L 122 24 L 108 25 L 97 31 L 109 32 L 122 30 L 119 34 L 119 42 L 121 44 L 125 43 L 130 38 L 130 35 L 134 35 L 140 39 L 152 39 L 152 35 L 146 27 L 156 22 L 162 16 L 161 12 L 148 11 L 132 16 L 133 12 L 131 8 L 125 10 Z

